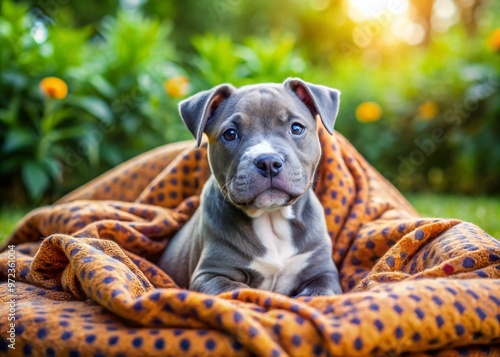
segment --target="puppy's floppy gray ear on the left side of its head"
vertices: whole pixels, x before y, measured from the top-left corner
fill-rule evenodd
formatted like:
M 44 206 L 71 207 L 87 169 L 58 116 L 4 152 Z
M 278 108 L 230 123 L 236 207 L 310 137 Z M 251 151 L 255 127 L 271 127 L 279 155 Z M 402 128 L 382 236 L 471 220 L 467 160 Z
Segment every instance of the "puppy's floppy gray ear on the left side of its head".
M 230 84 L 221 84 L 210 90 L 195 94 L 179 103 L 179 112 L 199 147 L 201 137 L 210 117 L 217 107 L 236 91 Z

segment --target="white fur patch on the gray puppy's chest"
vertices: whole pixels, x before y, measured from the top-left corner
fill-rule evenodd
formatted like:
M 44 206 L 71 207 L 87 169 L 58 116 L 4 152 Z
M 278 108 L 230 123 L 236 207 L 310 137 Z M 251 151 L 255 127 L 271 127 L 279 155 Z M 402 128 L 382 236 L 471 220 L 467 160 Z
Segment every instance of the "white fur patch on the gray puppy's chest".
M 307 266 L 312 252 L 297 254 L 289 222 L 292 218 L 289 206 L 254 218 L 254 232 L 266 248 L 266 253 L 250 264 L 264 277 L 259 289 L 288 295 L 295 287 L 297 274 Z

